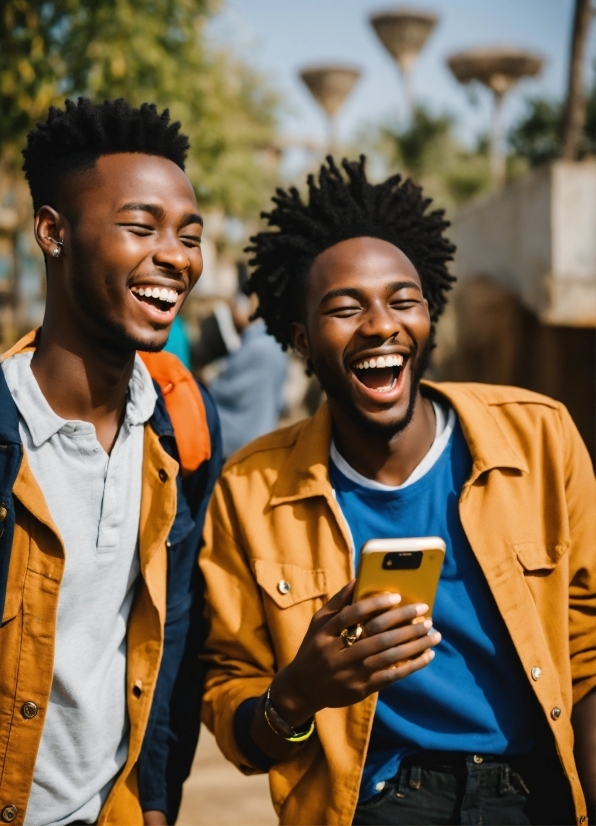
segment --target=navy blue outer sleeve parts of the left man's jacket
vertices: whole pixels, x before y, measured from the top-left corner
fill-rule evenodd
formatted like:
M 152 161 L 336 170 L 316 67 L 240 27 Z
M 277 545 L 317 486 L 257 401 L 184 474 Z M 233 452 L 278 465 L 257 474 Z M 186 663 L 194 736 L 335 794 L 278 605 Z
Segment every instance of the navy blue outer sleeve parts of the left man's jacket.
M 172 422 L 156 382 L 157 403 L 149 425 L 162 447 L 178 460 Z M 211 458 L 194 473 L 177 479 L 177 509 L 168 539 L 168 583 L 164 649 L 153 705 L 138 764 L 141 806 L 176 819 L 182 783 L 190 773 L 199 727 L 203 668 L 198 653 L 205 638 L 203 583 L 197 557 L 205 511 L 222 463 L 221 433 L 213 399 L 199 385 L 211 437 Z M 0 368 L 0 617 L 4 609 L 15 527 L 12 488 L 23 445 L 16 405 Z M 0 668 L 2 652 L 0 652 Z

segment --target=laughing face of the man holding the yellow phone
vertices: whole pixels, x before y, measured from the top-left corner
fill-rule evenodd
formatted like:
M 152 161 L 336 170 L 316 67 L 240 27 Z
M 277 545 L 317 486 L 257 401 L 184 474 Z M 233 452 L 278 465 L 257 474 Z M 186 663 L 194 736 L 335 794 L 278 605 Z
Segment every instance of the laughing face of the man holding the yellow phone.
M 334 418 L 390 437 L 414 414 L 430 316 L 413 264 L 393 244 L 352 238 L 322 252 L 307 276 L 296 349 L 312 362 Z

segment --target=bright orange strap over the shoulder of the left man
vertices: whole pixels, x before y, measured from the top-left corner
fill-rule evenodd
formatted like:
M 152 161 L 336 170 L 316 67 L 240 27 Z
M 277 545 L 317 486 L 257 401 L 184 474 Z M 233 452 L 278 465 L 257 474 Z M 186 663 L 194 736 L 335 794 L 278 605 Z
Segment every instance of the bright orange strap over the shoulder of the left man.
M 172 353 L 141 353 L 151 378 L 159 384 L 172 420 L 182 475 L 211 457 L 211 439 L 201 391 L 192 373 Z

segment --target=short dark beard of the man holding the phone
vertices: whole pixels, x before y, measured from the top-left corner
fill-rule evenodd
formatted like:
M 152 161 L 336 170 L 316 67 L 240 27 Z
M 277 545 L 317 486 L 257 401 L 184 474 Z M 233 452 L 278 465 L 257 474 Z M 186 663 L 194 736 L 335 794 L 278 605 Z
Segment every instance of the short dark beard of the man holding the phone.
M 345 387 L 345 385 L 339 385 L 339 382 L 336 382 L 334 378 L 329 378 L 329 380 L 321 380 L 321 386 L 325 393 L 332 398 L 334 401 L 341 404 L 344 408 L 348 416 L 352 419 L 353 423 L 359 430 L 362 430 L 368 436 L 372 436 L 376 439 L 383 439 L 389 440 L 396 433 L 400 433 L 402 430 L 405 430 L 406 427 L 410 424 L 414 417 L 414 412 L 416 410 L 416 402 L 418 399 L 418 389 L 420 386 L 420 381 L 428 368 L 430 362 L 430 354 L 433 350 L 434 343 L 432 341 L 432 336 L 430 336 L 424 345 L 424 349 L 418 355 L 417 350 L 414 350 L 414 353 L 411 357 L 412 363 L 412 379 L 411 379 L 411 386 L 410 386 L 410 397 L 408 399 L 408 407 L 406 409 L 405 414 L 398 419 L 397 421 L 392 422 L 379 422 L 375 419 L 369 418 L 365 413 L 360 410 L 354 403 L 352 396 L 350 395 L 349 391 Z M 331 371 L 330 371 L 331 372 Z M 334 374 L 335 375 L 335 374 Z M 317 375 L 317 377 L 319 377 Z

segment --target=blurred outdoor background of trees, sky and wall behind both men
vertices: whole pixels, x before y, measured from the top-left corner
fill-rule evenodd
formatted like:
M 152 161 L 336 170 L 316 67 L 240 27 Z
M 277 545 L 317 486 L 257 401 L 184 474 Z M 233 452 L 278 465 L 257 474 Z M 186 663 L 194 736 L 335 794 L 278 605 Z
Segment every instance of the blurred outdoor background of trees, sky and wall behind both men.
M 458 283 L 431 377 L 560 399 L 594 459 L 590 0 L 4 0 L 1 350 L 43 318 L 24 138 L 81 94 L 153 101 L 191 137 L 205 268 L 168 346 L 212 388 L 228 455 L 320 403 L 249 320 L 243 250 L 259 213 L 327 153 L 364 152 L 371 179 L 410 176 L 452 222 Z M 267 780 L 241 777 L 203 734 L 180 822 L 273 823 Z

